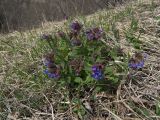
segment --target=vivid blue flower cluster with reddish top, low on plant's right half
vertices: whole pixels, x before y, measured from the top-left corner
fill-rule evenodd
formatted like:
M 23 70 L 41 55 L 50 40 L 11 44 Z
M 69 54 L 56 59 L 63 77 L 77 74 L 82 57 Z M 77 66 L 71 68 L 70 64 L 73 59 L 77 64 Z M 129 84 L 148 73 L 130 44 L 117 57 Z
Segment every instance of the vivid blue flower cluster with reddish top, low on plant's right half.
M 92 75 L 91 76 L 96 80 L 103 79 L 104 76 L 103 76 L 102 69 L 103 69 L 103 65 L 101 65 L 101 64 L 93 65 L 92 66 Z

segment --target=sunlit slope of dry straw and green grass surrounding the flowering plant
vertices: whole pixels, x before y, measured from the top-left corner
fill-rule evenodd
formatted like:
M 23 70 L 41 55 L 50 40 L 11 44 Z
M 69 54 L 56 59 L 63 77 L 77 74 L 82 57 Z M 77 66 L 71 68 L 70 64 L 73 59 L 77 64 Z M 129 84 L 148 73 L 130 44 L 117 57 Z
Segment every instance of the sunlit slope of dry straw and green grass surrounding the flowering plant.
M 131 15 L 131 13 L 133 13 Z M 114 18 L 120 33 L 120 42 L 126 53 L 135 49 L 126 41 L 124 31 L 130 28 L 131 19 L 138 20 L 138 27 L 143 28 L 140 40 L 142 50 L 148 54 L 143 71 L 134 72 L 134 80 L 124 79 L 117 95 L 97 95 L 97 116 L 93 119 L 116 120 L 159 120 L 160 117 L 160 4 L 157 1 L 142 0 L 127 5 L 99 11 L 83 18 L 88 24 L 110 24 Z M 79 19 L 82 19 L 79 18 Z M 159 22 L 159 23 L 158 23 Z M 33 73 L 41 71 L 41 56 L 44 50 L 37 45 L 41 33 L 52 33 L 64 29 L 66 22 L 45 23 L 43 28 L 26 32 L 14 32 L 0 36 L 0 118 L 6 119 L 51 119 L 52 107 L 57 108 L 55 117 L 71 117 L 72 109 L 63 112 L 58 103 L 63 95 L 57 91 L 52 81 L 35 81 Z M 109 25 L 108 25 L 109 26 Z M 107 28 L 106 28 L 107 29 Z M 112 34 L 108 31 L 109 34 Z M 134 33 L 138 36 L 138 32 Z M 38 52 L 38 53 L 37 53 Z M 48 98 L 50 101 L 48 101 Z M 102 100 L 102 98 L 105 100 Z M 52 104 L 51 104 L 52 103 Z M 107 115 L 106 115 L 107 114 Z M 87 116 L 88 117 L 88 116 Z M 88 120 L 89 118 L 85 118 Z

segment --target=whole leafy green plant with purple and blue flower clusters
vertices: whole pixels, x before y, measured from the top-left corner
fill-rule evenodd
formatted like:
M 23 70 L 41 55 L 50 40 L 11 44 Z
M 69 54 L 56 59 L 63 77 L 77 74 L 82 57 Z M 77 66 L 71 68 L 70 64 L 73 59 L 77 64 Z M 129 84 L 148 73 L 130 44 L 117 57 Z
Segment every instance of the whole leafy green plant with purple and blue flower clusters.
M 83 96 L 87 88 L 116 89 L 128 66 L 132 69 L 144 66 L 144 59 L 135 59 L 140 54 L 128 63 L 120 46 L 107 44 L 107 33 L 101 27 L 84 29 L 82 26 L 73 21 L 68 31 L 42 37 L 51 51 L 43 56 L 44 73 L 60 87 L 66 87 L 71 98 Z

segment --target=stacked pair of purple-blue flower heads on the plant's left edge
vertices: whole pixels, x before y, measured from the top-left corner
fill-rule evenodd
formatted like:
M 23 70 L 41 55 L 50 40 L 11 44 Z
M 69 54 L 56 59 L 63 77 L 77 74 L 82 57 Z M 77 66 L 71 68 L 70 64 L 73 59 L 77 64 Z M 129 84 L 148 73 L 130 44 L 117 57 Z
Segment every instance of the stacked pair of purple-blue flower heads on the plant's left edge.
M 44 74 L 49 78 L 60 78 L 60 68 L 54 63 L 54 54 L 48 53 L 43 57 L 43 63 L 46 66 Z

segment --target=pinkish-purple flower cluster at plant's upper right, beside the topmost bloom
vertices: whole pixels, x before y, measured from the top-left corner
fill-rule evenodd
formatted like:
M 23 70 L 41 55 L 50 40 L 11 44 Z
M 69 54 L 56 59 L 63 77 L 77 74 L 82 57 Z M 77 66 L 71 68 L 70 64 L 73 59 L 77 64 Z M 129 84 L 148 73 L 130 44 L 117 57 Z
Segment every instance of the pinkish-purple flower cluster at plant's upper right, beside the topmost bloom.
M 98 40 L 102 37 L 103 30 L 101 28 L 92 28 L 86 31 L 86 36 L 88 40 Z

